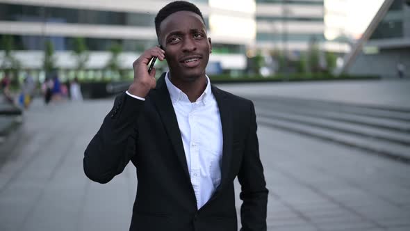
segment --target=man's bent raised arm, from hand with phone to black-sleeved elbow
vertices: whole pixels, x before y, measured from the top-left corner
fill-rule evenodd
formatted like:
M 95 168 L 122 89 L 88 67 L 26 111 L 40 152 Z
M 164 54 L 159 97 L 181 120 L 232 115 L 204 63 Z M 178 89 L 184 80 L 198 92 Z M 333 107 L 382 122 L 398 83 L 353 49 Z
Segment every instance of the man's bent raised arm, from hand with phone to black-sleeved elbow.
M 109 182 L 136 154 L 137 121 L 145 104 L 142 98 L 156 86 L 155 69 L 148 73 L 147 65 L 154 56 L 163 61 L 164 52 L 159 47 L 148 49 L 133 63 L 133 83 L 127 93 L 115 99 L 113 109 L 85 150 L 83 167 L 91 180 Z

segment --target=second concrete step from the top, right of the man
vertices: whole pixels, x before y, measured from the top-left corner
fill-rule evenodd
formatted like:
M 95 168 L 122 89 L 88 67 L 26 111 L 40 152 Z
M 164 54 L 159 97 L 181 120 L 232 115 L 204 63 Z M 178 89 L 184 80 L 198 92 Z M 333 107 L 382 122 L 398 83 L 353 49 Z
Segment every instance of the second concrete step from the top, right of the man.
M 359 116 L 347 112 L 326 111 L 325 109 L 318 111 L 308 107 L 294 106 L 292 104 L 277 104 L 276 102 L 255 102 L 255 105 L 256 108 L 270 109 L 272 111 L 286 111 L 297 115 L 348 122 L 356 125 L 367 125 L 369 127 L 410 134 L 410 122 L 404 122 L 402 120 Z

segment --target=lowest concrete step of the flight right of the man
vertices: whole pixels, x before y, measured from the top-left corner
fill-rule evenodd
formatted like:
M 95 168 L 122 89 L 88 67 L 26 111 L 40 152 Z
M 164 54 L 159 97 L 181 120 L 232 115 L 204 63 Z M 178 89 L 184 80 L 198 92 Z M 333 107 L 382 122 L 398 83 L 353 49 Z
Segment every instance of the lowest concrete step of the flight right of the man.
M 379 139 L 355 134 L 346 134 L 345 132 L 337 132 L 334 129 L 325 129 L 322 127 L 279 120 L 277 118 L 265 118 L 259 116 L 257 120 L 259 125 L 265 127 L 284 129 L 286 131 L 360 148 L 391 159 L 410 162 L 410 146 L 408 145 L 380 141 Z

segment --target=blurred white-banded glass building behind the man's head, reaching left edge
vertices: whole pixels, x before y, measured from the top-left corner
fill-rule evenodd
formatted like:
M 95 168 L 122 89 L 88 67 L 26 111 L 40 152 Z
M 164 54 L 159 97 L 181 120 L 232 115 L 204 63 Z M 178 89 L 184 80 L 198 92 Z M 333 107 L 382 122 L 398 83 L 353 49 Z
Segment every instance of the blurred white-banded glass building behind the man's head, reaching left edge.
M 85 38 L 91 51 L 88 67 L 104 67 L 104 56 L 108 54 L 106 51 L 115 43 L 122 45 L 125 57 L 130 57 L 129 54 L 138 57 L 140 52 L 158 44 L 154 17 L 168 2 L 170 1 L 0 0 L 0 36 L 13 36 L 19 51 L 17 57 L 24 67 L 32 68 L 33 64 L 26 64 L 22 54 L 42 60 L 40 51 L 44 49 L 45 40 L 54 44 L 58 60 L 64 61 L 58 63 L 59 66 L 69 67 L 69 63 L 74 61 L 67 54 L 72 50 L 76 37 Z M 213 41 L 211 61 L 220 62 L 226 69 L 245 69 L 245 47 L 255 39 L 254 0 L 243 0 L 241 4 L 236 4 L 236 8 L 208 0 L 192 2 L 202 10 L 208 26 L 208 36 Z M 253 9 L 249 6 L 253 6 Z M 218 20 L 221 17 L 223 24 Z M 229 31 L 233 25 L 249 32 Z M 3 49 L 1 44 L 0 49 Z M 103 58 L 99 58 L 99 55 Z M 37 63 L 36 67 L 41 67 L 41 62 L 33 63 Z

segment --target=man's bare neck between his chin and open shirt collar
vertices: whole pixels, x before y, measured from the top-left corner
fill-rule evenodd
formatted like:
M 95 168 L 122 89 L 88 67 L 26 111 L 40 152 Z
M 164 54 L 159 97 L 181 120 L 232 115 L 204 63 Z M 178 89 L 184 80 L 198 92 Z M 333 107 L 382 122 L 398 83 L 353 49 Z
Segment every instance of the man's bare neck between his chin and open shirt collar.
M 184 81 L 183 79 L 174 77 L 169 74 L 170 81 L 174 86 L 179 88 L 183 93 L 188 96 L 190 102 L 196 102 L 197 99 L 204 93 L 206 88 L 206 76 L 205 74 L 201 77 L 195 78 L 193 81 Z

